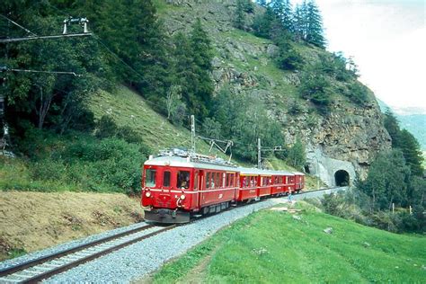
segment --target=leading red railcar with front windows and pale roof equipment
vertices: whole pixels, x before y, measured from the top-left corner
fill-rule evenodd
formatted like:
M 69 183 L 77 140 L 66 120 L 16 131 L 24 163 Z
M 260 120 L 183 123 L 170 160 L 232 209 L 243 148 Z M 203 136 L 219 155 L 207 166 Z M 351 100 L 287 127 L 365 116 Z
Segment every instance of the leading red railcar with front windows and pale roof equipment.
M 235 201 L 238 179 L 235 165 L 208 156 L 170 153 L 150 158 L 142 181 L 142 206 L 150 209 L 145 218 L 186 223 L 192 212 L 219 212 Z

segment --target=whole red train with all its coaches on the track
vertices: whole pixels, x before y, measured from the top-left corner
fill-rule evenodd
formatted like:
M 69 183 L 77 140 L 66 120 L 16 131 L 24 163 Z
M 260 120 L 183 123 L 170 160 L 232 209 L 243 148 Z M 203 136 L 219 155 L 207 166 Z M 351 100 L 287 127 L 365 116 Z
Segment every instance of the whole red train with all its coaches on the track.
M 232 204 L 299 192 L 304 173 L 237 167 L 181 150 L 150 156 L 144 164 L 142 206 L 145 219 L 187 223 L 191 215 L 220 212 Z

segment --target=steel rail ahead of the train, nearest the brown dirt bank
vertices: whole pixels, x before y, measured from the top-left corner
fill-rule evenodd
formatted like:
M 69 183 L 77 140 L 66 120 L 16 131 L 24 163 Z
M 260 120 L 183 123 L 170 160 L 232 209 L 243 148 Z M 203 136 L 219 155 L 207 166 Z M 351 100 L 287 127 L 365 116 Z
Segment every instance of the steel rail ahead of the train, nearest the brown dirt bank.
M 92 242 L 89 242 L 89 243 L 86 243 L 86 244 L 81 244 L 81 245 L 77 245 L 75 247 L 72 247 L 72 248 L 69 248 L 69 249 L 66 249 L 66 250 L 62 250 L 58 253 L 50 253 L 48 255 L 42 256 L 40 258 L 33 259 L 31 261 L 28 261 L 28 262 L 22 262 L 22 263 L 13 265 L 11 267 L 5 268 L 3 270 L 0 270 L 0 277 L 4 277 L 4 276 L 10 275 L 10 274 L 13 274 L 16 271 L 23 271 L 27 268 L 39 265 L 43 262 L 49 262 L 49 261 L 52 261 L 52 260 L 57 259 L 59 257 L 66 256 L 67 254 L 82 251 L 82 250 L 84 250 L 88 247 L 91 247 L 91 246 L 94 246 L 94 245 L 97 245 L 97 244 L 109 242 L 113 239 L 120 238 L 121 236 L 124 236 L 124 235 L 131 235 L 131 234 L 137 233 L 139 231 L 145 231 L 146 229 L 149 229 L 151 227 L 154 227 L 154 225 L 146 225 L 146 226 L 138 227 L 138 228 L 135 228 L 135 229 L 131 229 L 129 231 L 121 232 L 121 233 L 116 234 L 116 235 L 109 235 L 109 236 L 106 236 L 106 237 L 102 237 L 99 240 L 95 240 L 95 241 L 92 241 Z

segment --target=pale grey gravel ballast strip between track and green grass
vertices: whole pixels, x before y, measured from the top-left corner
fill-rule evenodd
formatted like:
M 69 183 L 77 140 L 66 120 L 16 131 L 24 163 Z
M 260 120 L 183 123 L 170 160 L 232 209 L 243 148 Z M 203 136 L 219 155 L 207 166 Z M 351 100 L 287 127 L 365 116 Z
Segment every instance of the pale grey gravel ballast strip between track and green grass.
M 259 209 L 273 206 L 278 200 L 264 200 L 252 205 L 227 210 L 201 218 L 185 226 L 155 235 L 143 242 L 102 256 L 47 280 L 58 282 L 129 282 L 159 269 L 164 262 L 200 244 L 220 228 Z

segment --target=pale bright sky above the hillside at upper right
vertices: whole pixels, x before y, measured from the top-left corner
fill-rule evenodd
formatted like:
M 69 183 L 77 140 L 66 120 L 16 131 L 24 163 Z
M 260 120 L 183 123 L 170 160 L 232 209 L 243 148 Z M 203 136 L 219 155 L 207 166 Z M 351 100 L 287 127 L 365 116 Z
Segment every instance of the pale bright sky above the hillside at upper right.
M 315 2 L 327 49 L 353 57 L 359 81 L 396 112 L 426 114 L 426 0 Z

